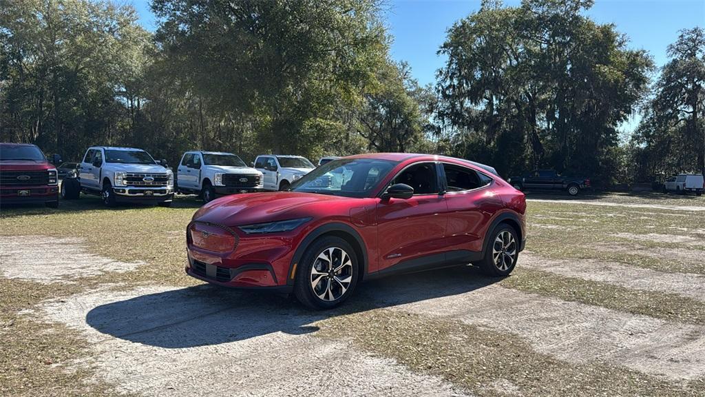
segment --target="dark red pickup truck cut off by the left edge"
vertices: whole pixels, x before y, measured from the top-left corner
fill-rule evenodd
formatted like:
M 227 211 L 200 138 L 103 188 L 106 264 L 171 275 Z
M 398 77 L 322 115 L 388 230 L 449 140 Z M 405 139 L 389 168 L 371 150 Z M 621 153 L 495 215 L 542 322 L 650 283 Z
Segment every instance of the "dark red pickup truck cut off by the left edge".
M 36 145 L 0 143 L 0 203 L 59 206 L 56 167 Z

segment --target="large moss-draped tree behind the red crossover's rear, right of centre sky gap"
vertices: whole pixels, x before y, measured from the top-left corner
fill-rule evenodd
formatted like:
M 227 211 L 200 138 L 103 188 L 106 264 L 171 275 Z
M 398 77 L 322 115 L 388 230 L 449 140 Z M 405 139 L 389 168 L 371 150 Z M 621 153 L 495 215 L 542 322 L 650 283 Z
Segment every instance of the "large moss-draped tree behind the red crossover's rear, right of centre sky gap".
M 648 87 L 651 59 L 613 25 L 582 15 L 592 1 L 484 1 L 440 49 L 439 119 L 465 155 L 500 172 L 555 167 L 608 182 L 618 126 Z

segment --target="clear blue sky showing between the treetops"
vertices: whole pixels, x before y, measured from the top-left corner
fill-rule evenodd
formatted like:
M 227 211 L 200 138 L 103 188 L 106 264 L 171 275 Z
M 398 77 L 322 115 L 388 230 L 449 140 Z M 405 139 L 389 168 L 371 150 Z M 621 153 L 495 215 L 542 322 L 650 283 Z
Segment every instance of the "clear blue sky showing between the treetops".
M 434 83 L 444 59 L 436 51 L 446 30 L 456 20 L 479 9 L 480 0 L 393 0 L 385 6 L 385 19 L 394 37 L 391 55 L 407 61 L 419 83 Z M 520 1 L 505 0 L 517 5 Z M 140 23 L 154 30 L 149 1 L 133 1 Z M 656 65 L 667 61 L 666 47 L 678 37 L 678 30 L 705 26 L 705 0 L 596 0 L 587 14 L 598 23 L 614 23 L 630 38 L 629 47 L 649 51 Z M 625 124 L 632 130 L 638 117 Z

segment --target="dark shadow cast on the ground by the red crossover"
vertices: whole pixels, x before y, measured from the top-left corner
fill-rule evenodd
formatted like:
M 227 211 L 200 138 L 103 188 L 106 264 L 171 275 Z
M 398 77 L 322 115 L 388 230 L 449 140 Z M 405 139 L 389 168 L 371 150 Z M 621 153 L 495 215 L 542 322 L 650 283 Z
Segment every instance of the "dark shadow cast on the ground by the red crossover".
M 458 295 L 499 280 L 470 266 L 399 275 L 363 283 L 343 307 L 329 311 L 309 311 L 281 295 L 198 285 L 102 304 L 86 321 L 133 343 L 192 348 L 276 332 L 311 333 L 318 331 L 312 323 L 329 317 Z

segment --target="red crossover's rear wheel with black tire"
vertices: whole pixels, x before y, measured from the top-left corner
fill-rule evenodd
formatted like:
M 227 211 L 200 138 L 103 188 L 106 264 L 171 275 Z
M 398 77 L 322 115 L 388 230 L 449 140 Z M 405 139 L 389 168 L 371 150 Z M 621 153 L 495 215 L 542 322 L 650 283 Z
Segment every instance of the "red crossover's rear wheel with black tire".
M 507 236 L 507 233 L 513 239 L 513 246 L 510 244 L 508 239 L 504 238 Z M 486 238 L 488 240 L 486 243 L 484 258 L 482 261 L 477 263 L 479 268 L 482 269 L 483 273 L 492 277 L 505 277 L 512 273 L 514 266 L 517 264 L 517 259 L 519 259 L 520 245 L 520 241 L 514 227 L 511 227 L 506 223 L 500 223 L 486 236 Z M 502 238 L 502 243 L 498 242 L 499 238 Z M 500 247 L 501 245 L 507 245 L 507 247 Z M 512 249 L 514 251 L 513 256 L 511 256 Z M 500 253 L 499 259 L 501 259 L 501 261 L 498 261 L 497 251 Z M 509 256 L 507 254 L 509 254 Z M 510 263 L 508 263 L 510 256 L 512 259 Z

